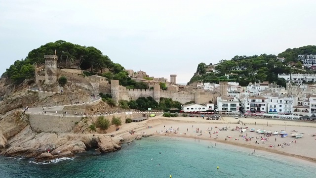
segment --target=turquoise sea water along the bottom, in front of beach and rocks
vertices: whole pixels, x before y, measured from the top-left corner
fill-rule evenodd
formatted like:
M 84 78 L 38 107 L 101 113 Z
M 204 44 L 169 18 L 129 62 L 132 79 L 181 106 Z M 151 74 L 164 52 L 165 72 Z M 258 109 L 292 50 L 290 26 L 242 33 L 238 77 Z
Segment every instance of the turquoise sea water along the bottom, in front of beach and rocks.
M 251 156 L 249 149 L 211 144 L 149 137 L 124 144 L 117 152 L 88 151 L 49 164 L 0 157 L 0 178 L 315 178 L 314 163 L 260 151 Z

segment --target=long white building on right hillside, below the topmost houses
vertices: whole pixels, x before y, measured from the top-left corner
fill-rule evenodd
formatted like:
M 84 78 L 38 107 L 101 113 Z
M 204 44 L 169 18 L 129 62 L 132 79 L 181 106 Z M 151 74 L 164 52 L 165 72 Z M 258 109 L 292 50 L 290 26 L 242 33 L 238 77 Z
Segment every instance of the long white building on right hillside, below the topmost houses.
M 302 85 L 305 82 L 316 82 L 316 74 L 278 74 L 278 78 L 283 78 L 286 82 L 293 82 Z

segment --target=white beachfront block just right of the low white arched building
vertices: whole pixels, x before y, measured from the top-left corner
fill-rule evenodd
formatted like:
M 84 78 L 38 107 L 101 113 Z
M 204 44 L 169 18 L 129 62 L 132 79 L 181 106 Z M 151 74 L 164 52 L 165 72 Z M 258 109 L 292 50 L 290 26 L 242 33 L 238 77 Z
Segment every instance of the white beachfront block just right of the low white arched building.
M 217 97 L 217 109 L 221 114 L 238 113 L 239 100 L 234 96 Z

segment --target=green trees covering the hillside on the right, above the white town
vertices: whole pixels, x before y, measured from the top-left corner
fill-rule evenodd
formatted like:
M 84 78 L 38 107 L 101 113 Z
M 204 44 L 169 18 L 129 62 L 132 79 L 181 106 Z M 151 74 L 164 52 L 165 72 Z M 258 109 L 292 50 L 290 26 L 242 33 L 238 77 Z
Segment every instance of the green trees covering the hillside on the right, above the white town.
M 201 81 L 204 83 L 219 83 L 220 81 L 238 82 L 241 86 L 247 86 L 250 82 L 276 83 L 284 86 L 284 79 L 277 78 L 280 73 L 314 73 L 309 69 L 302 69 L 302 61 L 298 60 L 299 54 L 316 54 L 316 46 L 308 45 L 299 48 L 286 49 L 278 54 L 278 57 L 285 57 L 284 62 L 276 60 L 276 55 L 261 54 L 260 56 L 235 56 L 231 60 L 221 60 L 215 69 L 219 73 L 208 71 L 212 65 L 199 63 L 196 74 L 191 78 L 189 83 Z M 295 62 L 295 66 L 289 66 L 289 62 Z M 243 68 L 236 71 L 234 68 Z M 226 74 L 237 74 L 229 77 Z

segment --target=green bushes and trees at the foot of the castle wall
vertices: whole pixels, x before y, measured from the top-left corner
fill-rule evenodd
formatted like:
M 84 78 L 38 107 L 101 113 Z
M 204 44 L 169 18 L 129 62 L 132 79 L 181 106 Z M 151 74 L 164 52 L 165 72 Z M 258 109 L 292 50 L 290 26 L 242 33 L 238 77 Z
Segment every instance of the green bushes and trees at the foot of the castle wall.
M 159 103 L 153 97 L 139 97 L 137 100 L 119 100 L 119 107 L 123 109 L 137 109 L 140 111 L 147 111 L 148 108 L 152 110 L 170 111 L 170 109 L 181 109 L 181 103 L 173 101 L 171 98 L 161 97 Z

